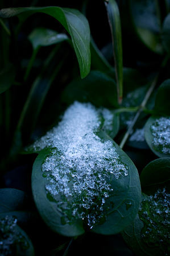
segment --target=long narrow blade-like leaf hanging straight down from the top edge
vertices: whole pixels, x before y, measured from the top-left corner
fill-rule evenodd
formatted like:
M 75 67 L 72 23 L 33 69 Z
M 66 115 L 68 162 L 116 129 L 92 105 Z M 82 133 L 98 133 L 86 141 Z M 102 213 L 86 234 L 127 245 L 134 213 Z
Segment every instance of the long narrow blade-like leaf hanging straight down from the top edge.
M 118 102 L 122 102 L 123 97 L 123 55 L 122 55 L 122 34 L 121 19 L 119 9 L 115 0 L 105 1 L 107 16 L 111 30 L 113 53 L 115 63 L 115 75 L 117 80 Z

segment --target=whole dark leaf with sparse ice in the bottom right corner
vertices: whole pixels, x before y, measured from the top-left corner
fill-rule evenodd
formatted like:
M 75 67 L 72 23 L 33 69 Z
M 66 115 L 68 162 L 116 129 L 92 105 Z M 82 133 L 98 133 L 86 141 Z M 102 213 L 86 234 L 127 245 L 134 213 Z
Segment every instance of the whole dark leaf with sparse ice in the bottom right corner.
M 142 203 L 133 224 L 122 232 L 130 249 L 139 256 L 169 254 L 170 194 L 158 189 L 154 195 L 142 194 Z

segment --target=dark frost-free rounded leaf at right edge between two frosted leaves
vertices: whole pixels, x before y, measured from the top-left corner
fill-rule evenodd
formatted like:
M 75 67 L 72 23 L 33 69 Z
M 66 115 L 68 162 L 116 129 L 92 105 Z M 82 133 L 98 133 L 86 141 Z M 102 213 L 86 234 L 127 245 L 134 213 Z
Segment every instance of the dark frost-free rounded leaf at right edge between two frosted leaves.
M 140 174 L 140 184 L 144 192 L 167 186 L 170 181 L 170 158 L 160 158 L 147 164 Z M 148 193 L 147 193 L 148 194 Z

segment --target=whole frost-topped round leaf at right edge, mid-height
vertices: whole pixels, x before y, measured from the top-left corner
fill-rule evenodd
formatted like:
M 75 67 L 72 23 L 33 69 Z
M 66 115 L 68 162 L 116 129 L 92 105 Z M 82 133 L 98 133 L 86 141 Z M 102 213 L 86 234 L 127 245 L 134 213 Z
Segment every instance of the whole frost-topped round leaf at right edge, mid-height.
M 170 157 L 169 117 L 150 117 L 146 122 L 144 135 L 148 146 L 157 156 Z

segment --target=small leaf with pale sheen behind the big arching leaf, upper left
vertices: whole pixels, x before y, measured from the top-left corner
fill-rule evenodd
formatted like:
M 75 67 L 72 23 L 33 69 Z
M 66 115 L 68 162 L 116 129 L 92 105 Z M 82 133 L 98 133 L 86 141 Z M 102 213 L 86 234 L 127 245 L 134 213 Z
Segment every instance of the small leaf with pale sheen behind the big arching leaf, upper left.
M 54 30 L 49 30 L 48 28 L 37 27 L 28 36 L 32 47 L 34 49 L 40 46 L 51 46 L 51 44 L 56 44 L 68 40 L 68 36 L 65 34 L 60 34 Z

